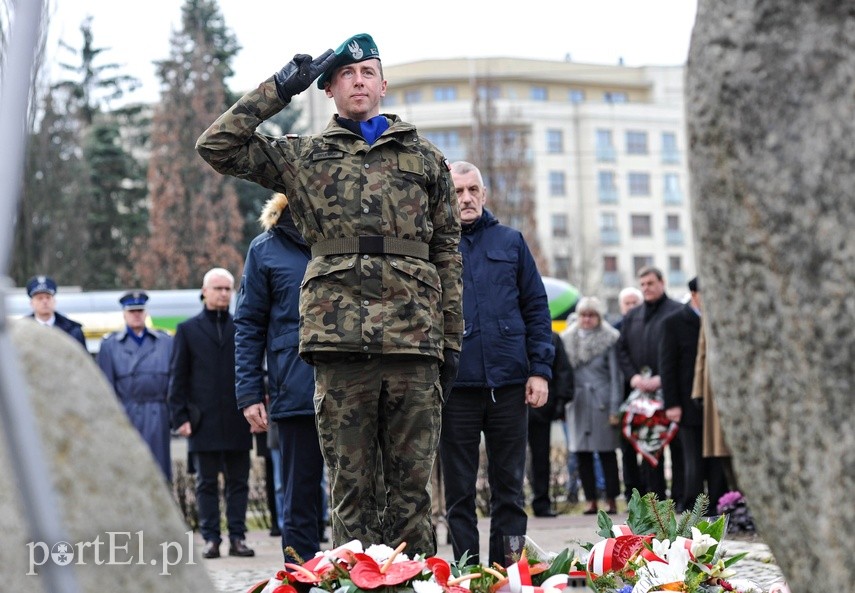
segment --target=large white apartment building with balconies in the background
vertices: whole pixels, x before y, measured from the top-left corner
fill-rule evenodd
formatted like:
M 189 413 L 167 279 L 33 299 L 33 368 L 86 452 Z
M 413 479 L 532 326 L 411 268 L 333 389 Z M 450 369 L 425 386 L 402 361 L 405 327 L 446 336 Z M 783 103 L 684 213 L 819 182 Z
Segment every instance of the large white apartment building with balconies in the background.
M 525 136 L 543 273 L 600 296 L 610 313 L 643 265 L 664 272 L 672 297 L 685 295 L 695 255 L 682 67 L 476 58 L 384 66 L 384 75 L 382 110 L 415 124 L 449 161 L 475 161 L 476 103 Z M 306 95 L 306 126 L 319 131 L 334 106 L 320 91 Z M 501 199 L 491 190 L 488 208 Z

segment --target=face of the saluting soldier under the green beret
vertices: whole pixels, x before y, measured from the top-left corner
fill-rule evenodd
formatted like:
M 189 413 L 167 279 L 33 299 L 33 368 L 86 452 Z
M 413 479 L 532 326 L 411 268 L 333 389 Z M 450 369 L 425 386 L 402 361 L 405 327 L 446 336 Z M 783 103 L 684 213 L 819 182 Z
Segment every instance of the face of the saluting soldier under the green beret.
M 338 114 L 354 121 L 368 121 L 380 114 L 380 99 L 386 96 L 386 81 L 380 60 L 348 64 L 336 70 L 325 89 L 335 101 Z

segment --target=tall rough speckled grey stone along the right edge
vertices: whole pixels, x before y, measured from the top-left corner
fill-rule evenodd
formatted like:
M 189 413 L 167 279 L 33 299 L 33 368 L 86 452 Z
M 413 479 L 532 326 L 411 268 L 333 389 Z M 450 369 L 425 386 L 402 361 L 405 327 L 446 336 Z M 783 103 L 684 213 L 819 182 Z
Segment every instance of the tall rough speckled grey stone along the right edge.
M 712 386 L 794 593 L 847 591 L 855 505 L 855 10 L 700 0 L 687 68 Z

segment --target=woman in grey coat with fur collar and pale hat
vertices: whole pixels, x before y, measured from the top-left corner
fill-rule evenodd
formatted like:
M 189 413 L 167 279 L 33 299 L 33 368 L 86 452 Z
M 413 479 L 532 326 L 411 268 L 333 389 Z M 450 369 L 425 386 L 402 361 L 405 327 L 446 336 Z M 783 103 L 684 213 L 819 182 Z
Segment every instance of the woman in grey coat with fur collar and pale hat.
M 603 319 L 604 307 L 596 297 L 584 297 L 576 305 L 576 318 L 561 334 L 567 358 L 573 367 L 575 390 L 567 404 L 565 422 L 570 432 L 570 450 L 579 460 L 579 477 L 586 515 L 597 512 L 594 452 L 599 453 L 606 480 L 606 512 L 617 512 L 620 493 L 617 453 L 620 446 L 620 415 L 623 383 L 615 343 L 619 333 Z

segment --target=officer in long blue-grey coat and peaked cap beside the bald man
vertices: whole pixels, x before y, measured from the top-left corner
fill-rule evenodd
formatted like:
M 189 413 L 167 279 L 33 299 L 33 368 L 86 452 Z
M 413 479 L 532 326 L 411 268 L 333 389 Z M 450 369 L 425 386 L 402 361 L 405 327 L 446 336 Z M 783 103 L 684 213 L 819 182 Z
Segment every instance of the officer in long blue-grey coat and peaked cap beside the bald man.
M 125 329 L 101 342 L 98 366 L 113 386 L 131 424 L 148 444 L 167 480 L 172 480 L 169 453 L 169 361 L 172 336 L 146 327 L 148 295 L 127 292 L 119 299 Z

